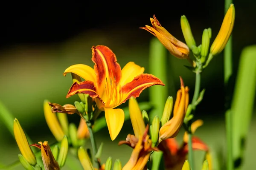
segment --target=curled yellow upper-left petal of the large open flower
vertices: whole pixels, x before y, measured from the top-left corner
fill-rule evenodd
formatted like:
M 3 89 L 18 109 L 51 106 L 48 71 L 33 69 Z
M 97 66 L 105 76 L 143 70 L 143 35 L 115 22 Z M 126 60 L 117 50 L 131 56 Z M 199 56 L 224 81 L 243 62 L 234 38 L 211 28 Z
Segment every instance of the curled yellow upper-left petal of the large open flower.
M 92 82 L 95 82 L 96 79 L 96 75 L 93 68 L 84 64 L 71 65 L 64 71 L 63 75 L 66 76 L 67 73 L 77 74 L 83 79 L 90 80 Z

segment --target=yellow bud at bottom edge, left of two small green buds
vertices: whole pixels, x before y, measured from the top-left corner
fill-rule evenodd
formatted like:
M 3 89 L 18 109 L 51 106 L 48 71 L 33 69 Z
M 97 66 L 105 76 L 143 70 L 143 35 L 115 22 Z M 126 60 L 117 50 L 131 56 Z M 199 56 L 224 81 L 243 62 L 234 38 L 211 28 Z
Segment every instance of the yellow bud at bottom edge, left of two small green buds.
M 78 158 L 84 170 L 94 170 L 93 164 L 83 147 L 78 149 Z

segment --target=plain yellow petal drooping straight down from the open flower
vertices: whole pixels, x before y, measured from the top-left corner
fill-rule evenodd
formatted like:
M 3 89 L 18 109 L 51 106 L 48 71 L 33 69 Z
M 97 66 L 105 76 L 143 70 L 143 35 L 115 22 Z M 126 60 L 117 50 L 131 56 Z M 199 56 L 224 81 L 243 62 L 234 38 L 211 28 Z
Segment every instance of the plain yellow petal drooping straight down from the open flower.
M 105 118 L 111 140 L 113 141 L 122 129 L 125 121 L 125 113 L 122 109 L 105 108 Z

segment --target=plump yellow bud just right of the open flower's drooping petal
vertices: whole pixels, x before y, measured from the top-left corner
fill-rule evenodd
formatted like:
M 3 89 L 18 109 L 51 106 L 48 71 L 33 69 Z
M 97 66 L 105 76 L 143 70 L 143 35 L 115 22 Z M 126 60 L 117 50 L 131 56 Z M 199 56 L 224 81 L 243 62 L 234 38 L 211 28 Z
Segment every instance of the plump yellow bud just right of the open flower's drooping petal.
M 143 133 L 145 132 L 145 124 L 140 112 L 139 104 L 134 97 L 129 99 L 129 114 L 135 136 L 137 138 L 143 136 Z

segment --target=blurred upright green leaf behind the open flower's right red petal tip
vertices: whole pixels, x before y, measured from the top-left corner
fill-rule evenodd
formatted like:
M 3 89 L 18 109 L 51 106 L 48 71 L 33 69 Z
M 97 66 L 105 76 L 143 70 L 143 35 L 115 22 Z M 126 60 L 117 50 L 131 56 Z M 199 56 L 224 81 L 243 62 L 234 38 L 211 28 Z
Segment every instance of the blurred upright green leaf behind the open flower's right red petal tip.
M 149 115 L 150 120 L 154 116 L 162 118 L 163 108 L 168 97 L 167 79 L 167 50 L 157 38 L 153 38 L 149 47 L 149 73 L 159 78 L 166 86 L 155 85 L 149 88 L 149 101 L 154 110 Z

